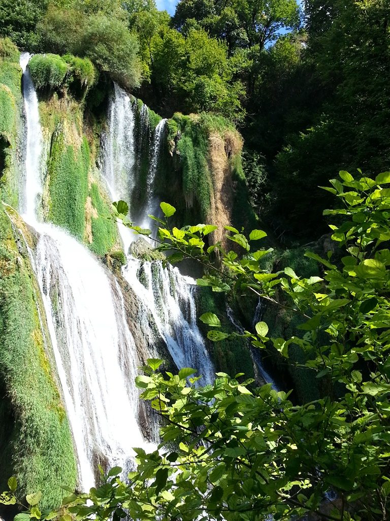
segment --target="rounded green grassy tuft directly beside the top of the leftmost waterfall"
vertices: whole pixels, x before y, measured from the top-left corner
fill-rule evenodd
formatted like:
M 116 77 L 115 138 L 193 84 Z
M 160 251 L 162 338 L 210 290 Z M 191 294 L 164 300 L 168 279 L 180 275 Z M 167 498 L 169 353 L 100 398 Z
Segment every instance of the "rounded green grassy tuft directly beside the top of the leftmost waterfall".
M 28 67 L 36 89 L 58 89 L 69 70 L 58 54 L 35 54 Z

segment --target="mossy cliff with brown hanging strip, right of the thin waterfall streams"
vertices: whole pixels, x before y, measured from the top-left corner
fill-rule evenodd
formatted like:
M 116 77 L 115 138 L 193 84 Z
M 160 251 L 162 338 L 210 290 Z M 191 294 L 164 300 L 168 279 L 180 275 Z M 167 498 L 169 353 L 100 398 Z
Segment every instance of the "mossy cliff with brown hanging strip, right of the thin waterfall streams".
M 242 138 L 225 118 L 175 114 L 167 122 L 157 193 L 178 209 L 179 224 L 255 225 L 241 167 Z

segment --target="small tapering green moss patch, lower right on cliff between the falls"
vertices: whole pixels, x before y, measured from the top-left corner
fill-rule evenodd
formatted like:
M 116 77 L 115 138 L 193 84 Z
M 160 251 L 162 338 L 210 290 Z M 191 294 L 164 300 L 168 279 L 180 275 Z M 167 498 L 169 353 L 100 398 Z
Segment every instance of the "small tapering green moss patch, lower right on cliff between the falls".
M 91 217 L 92 243 L 89 247 L 97 255 L 104 255 L 112 250 L 118 240 L 116 224 L 110 219 L 108 204 L 103 201 L 96 183 L 92 184 L 89 196 L 97 212 L 97 217 Z

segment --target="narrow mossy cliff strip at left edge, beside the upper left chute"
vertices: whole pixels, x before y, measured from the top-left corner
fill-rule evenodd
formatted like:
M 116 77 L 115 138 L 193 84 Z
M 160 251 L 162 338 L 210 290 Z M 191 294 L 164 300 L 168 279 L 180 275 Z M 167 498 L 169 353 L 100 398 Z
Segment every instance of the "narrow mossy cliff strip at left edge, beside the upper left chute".
M 0 196 L 12 206 L 19 204 L 20 130 L 22 114 L 19 52 L 0 56 Z

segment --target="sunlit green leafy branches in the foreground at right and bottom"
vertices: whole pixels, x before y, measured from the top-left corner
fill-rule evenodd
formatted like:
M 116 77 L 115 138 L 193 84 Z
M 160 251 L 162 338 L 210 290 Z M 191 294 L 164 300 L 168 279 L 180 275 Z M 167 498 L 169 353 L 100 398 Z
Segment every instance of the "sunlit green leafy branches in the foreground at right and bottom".
M 158 450 L 136 449 L 135 472 L 123 478 L 114 468 L 98 488 L 64 500 L 78 521 L 389 517 L 390 189 L 383 185 L 390 172 L 355 180 L 342 171 L 331 183 L 327 190 L 342 207 L 325 213 L 339 220 L 331 225 L 332 239 L 343 256 L 336 262 L 331 253 L 307 253 L 322 269 L 322 277 L 308 279 L 291 268 L 273 274 L 261 268 L 268 251 L 252 249 L 264 237 L 261 230 L 246 238 L 228 227 L 228 240 L 242 253 L 226 252 L 206 244 L 213 226 L 169 227 L 175 209 L 162 203 L 165 219 L 154 218 L 160 249 L 173 252 L 171 258 L 198 259 L 208 270 L 199 282 L 214 291 L 255 291 L 280 305 L 288 299 L 302 317 L 302 338 L 270 338 L 265 322 L 244 334 L 284 357 L 292 343 L 314 350 L 306 366 L 329 391 L 298 406 L 289 393 L 270 384 L 256 389 L 242 374 L 219 373 L 212 385 L 199 387 L 193 369 L 162 374 L 161 361 L 150 359 L 136 383 L 162 418 Z M 116 217 L 148 234 L 126 221 L 126 207 L 116 203 Z M 225 338 L 217 316 L 201 318 L 211 339 Z M 28 515 L 36 517 L 31 508 Z

